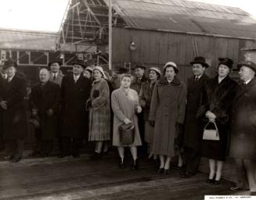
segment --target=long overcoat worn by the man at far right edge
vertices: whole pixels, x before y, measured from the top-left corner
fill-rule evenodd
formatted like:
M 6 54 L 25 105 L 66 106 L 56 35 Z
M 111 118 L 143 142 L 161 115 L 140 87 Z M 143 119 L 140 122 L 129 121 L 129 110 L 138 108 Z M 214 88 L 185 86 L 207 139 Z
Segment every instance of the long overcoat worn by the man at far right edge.
M 256 160 L 256 78 L 240 86 L 232 109 L 229 156 Z

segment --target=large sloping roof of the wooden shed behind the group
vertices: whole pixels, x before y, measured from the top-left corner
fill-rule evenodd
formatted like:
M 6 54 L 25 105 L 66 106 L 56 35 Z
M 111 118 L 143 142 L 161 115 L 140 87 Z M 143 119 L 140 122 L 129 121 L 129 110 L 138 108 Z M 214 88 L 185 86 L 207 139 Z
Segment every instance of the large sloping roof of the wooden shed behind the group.
M 234 7 L 181 0 L 116 0 L 114 9 L 128 27 L 256 38 L 256 20 Z

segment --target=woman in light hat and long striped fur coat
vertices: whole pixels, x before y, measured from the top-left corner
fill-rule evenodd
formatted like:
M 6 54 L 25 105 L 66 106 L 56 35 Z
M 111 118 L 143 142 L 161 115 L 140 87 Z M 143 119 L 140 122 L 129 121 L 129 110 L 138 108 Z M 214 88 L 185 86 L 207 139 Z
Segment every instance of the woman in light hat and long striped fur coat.
M 90 98 L 87 102 L 89 109 L 88 141 L 96 141 L 92 159 L 98 159 L 103 152 L 107 152 L 107 141 L 110 140 L 110 89 L 104 79 L 105 73 L 101 66 L 93 70 L 94 81 Z

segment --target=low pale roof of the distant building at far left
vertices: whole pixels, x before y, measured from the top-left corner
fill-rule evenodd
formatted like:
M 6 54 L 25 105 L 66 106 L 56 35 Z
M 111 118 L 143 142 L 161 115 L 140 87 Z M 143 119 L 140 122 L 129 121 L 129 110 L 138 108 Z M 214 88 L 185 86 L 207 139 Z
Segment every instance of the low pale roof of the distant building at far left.
M 59 34 L 26 30 L 0 30 L 0 48 L 55 51 Z

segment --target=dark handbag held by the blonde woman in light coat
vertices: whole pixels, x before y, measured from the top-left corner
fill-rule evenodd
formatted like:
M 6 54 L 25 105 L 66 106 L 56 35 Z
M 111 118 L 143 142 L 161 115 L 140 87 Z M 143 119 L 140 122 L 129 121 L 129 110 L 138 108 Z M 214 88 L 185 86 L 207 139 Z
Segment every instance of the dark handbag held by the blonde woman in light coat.
M 135 138 L 135 127 L 132 123 L 121 124 L 118 127 L 121 145 L 131 145 Z

